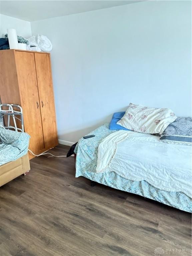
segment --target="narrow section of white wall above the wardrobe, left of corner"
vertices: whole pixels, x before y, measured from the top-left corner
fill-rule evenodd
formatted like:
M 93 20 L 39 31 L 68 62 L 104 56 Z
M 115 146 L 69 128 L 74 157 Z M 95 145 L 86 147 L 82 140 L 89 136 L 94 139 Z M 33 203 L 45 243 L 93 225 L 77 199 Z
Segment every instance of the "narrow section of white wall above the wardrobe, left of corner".
M 31 36 L 31 23 L 29 21 L 16 19 L 0 14 L 0 37 L 4 37 L 7 28 L 15 28 L 17 35 L 29 38 Z

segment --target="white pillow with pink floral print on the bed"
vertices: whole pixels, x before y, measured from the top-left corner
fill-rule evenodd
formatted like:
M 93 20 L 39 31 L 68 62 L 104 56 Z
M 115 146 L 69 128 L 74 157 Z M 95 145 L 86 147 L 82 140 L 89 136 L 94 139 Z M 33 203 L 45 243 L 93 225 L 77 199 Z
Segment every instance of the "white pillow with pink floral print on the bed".
M 150 108 L 130 103 L 117 124 L 135 132 L 162 134 L 176 118 L 169 108 Z

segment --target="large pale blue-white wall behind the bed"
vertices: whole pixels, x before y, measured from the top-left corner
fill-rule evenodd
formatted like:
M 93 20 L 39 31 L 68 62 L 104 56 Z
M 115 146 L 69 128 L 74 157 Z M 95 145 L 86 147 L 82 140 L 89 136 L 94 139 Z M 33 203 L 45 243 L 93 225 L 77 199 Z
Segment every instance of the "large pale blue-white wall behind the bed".
M 146 1 L 31 26 L 53 43 L 59 139 L 76 142 L 130 102 L 191 116 L 190 1 Z

